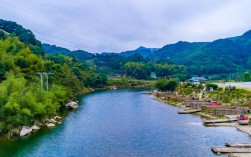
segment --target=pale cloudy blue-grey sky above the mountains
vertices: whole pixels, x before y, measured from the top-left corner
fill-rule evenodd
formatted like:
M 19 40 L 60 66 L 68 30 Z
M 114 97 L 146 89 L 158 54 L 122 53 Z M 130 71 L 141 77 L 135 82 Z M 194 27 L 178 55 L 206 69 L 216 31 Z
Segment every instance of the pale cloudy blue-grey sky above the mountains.
M 0 0 L 0 18 L 44 43 L 120 52 L 213 41 L 251 29 L 250 0 Z

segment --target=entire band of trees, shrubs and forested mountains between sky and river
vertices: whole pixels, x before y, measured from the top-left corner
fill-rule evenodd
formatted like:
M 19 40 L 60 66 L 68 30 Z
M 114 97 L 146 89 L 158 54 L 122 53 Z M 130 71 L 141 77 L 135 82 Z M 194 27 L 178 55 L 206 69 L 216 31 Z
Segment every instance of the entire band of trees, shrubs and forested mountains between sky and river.
M 121 54 L 92 54 L 41 44 L 34 34 L 15 22 L 0 20 L 0 134 L 12 133 L 22 125 L 43 122 L 57 114 L 61 105 L 91 88 L 152 86 L 195 96 L 207 90 L 205 98 L 225 103 L 242 103 L 249 91 L 183 84 L 190 75 L 236 73 L 236 79 L 250 81 L 251 31 L 242 36 L 214 42 L 178 42 L 161 49 L 140 47 Z M 237 72 L 246 71 L 241 74 Z M 40 87 L 39 72 L 50 72 L 49 91 Z M 114 77 L 120 77 L 111 79 Z M 175 78 L 175 79 L 173 79 Z M 147 80 L 147 81 L 146 81 Z M 214 91 L 208 91 L 212 87 Z M 45 89 L 45 87 L 43 87 Z M 251 104 L 251 103 L 250 103 Z

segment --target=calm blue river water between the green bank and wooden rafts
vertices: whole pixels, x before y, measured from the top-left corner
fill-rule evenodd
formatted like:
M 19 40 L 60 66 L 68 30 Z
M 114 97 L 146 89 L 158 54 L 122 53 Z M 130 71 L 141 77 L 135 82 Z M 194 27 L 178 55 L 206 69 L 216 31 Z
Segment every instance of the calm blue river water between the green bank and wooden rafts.
M 0 142 L 0 156 L 214 156 L 210 147 L 226 141 L 251 142 L 231 127 L 205 127 L 199 116 L 142 90 L 104 91 L 84 96 L 80 108 L 54 129 Z

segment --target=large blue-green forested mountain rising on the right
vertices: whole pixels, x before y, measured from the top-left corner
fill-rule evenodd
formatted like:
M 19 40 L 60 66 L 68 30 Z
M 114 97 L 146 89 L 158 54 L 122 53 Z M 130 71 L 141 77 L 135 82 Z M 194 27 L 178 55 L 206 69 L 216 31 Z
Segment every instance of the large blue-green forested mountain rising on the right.
M 185 65 L 189 73 L 197 75 L 248 70 L 251 67 L 251 31 L 213 42 L 166 45 L 148 57 Z

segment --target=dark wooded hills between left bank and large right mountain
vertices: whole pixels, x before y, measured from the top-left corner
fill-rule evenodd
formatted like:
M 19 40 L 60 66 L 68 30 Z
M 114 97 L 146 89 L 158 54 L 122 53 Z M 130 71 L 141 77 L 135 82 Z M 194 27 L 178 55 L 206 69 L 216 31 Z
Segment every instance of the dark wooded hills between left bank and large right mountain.
M 102 53 L 91 55 L 87 52 L 70 51 L 64 48 L 50 46 L 48 44 L 43 45 L 45 52 L 51 55 L 58 55 L 61 53 L 68 56 L 74 56 L 85 65 L 92 67 L 96 72 L 105 73 L 107 75 L 120 75 L 131 77 L 135 79 L 149 80 L 151 79 L 151 72 L 155 72 L 157 77 L 173 77 L 174 75 L 186 74 L 186 68 L 181 65 L 175 65 L 167 62 L 154 62 L 141 56 L 138 51 L 149 51 L 146 48 L 139 48 L 132 55 L 126 55 L 129 52 L 123 54 L 116 53 Z M 82 57 L 80 57 L 82 56 Z

